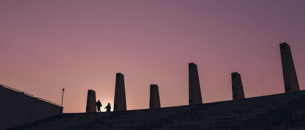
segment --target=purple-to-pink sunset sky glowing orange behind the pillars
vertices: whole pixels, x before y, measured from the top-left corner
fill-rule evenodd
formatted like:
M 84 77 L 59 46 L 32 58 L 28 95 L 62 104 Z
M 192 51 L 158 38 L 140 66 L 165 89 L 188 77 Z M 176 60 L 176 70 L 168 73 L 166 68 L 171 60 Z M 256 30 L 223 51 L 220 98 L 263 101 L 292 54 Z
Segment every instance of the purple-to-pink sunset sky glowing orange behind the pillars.
M 305 1 L 0 1 L 0 83 L 85 112 L 87 90 L 113 105 L 115 73 L 127 109 L 188 105 L 188 63 L 203 103 L 284 93 L 279 44 L 292 51 L 305 89 Z M 18 102 L 18 101 L 12 101 Z M 22 107 L 21 107 L 22 108 Z M 105 111 L 105 109 L 104 109 Z

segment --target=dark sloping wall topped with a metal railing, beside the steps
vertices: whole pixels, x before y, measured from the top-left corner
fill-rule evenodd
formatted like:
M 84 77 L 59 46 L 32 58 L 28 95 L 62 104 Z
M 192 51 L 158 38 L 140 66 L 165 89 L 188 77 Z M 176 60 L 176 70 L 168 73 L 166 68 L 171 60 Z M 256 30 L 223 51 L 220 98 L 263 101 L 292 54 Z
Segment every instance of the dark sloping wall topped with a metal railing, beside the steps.
M 0 130 L 62 114 L 59 104 L 0 85 Z

